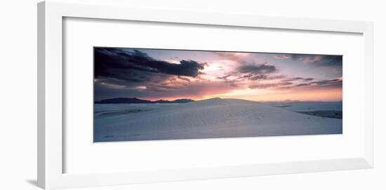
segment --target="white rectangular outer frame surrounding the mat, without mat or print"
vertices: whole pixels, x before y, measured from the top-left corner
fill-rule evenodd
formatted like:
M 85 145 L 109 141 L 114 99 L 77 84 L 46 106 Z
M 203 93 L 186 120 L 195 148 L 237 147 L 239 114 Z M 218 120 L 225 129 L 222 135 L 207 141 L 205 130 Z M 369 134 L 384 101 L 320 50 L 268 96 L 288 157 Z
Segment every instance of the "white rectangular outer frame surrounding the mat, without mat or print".
M 364 36 L 364 154 L 353 158 L 258 165 L 229 165 L 221 168 L 190 168 L 157 172 L 68 174 L 63 172 L 63 18 L 95 18 L 149 22 L 189 23 L 359 33 Z M 38 4 L 38 186 L 59 189 L 186 179 L 211 179 L 274 175 L 297 172 L 373 168 L 373 23 L 364 21 L 277 18 L 231 13 L 197 13 L 43 1 Z

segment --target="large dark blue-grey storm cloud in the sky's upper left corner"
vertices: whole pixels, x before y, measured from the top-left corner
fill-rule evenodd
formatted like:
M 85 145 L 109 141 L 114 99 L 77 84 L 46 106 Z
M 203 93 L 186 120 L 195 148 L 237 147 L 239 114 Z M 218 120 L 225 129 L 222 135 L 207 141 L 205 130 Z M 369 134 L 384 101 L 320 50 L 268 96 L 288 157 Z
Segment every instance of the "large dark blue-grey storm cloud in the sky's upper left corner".
M 142 81 L 145 76 L 138 76 L 135 71 L 196 77 L 201 74 L 200 70 L 205 65 L 194 60 L 180 60 L 180 64 L 155 60 L 140 50 L 131 52 L 118 48 L 95 48 L 94 53 L 95 78 L 106 76 L 133 82 Z

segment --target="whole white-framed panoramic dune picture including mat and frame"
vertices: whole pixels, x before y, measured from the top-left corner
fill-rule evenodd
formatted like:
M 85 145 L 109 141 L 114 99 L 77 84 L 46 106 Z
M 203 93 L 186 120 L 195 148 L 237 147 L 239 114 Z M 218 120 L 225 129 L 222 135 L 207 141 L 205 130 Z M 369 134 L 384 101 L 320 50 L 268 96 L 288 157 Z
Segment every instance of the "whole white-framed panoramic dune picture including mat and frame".
M 44 189 L 373 168 L 373 24 L 38 5 Z

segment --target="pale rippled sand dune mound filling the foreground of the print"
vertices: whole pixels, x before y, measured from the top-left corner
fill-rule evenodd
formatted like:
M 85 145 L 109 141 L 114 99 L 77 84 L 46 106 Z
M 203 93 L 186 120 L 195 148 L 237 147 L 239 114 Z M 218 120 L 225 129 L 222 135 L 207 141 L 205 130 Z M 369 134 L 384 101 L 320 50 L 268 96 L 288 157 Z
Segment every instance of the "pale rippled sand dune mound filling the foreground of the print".
M 94 121 L 95 142 L 340 133 L 341 119 L 220 98 L 95 118 Z

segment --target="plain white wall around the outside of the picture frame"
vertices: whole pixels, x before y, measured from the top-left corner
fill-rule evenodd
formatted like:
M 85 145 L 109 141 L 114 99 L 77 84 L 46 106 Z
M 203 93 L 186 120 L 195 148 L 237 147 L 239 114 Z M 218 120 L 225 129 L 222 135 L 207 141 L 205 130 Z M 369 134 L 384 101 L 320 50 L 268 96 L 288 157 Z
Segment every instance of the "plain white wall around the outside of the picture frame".
M 386 189 L 386 121 L 383 116 L 383 107 L 386 107 L 386 11 L 382 1 L 114 2 L 194 11 L 372 20 L 375 23 L 375 168 L 89 189 Z M 14 0 L 2 2 L 0 6 L 0 189 L 39 189 L 36 187 L 36 3 L 36 0 Z

